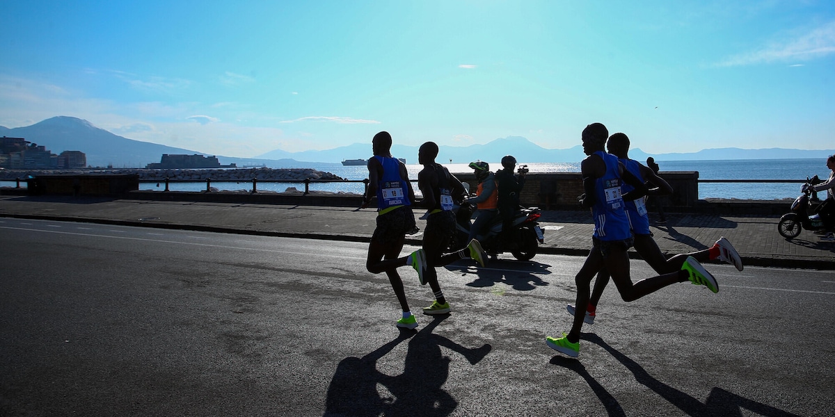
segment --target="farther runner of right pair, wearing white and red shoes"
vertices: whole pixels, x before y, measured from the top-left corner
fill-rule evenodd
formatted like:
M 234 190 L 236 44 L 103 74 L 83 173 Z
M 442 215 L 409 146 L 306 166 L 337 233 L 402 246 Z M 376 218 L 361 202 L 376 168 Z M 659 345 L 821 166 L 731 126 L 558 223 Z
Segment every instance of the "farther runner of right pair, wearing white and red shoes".
M 638 161 L 629 158 L 630 140 L 624 133 L 615 133 L 610 136 L 606 147 L 608 148 L 609 153 L 618 157 L 620 159 L 620 163 L 623 163 L 625 168 L 630 173 L 635 175 L 640 182 L 648 182 L 655 186 L 655 188 L 650 188 L 648 190 L 648 195 L 659 196 L 673 192 L 673 188 L 670 184 L 663 178 L 660 178 L 655 173 L 654 169 L 645 167 Z M 621 190 L 624 193 L 628 193 L 632 189 L 634 188 L 628 183 L 621 185 Z M 719 240 L 716 240 L 716 244 L 713 244 L 710 249 L 699 250 L 691 252 L 690 254 L 676 254 L 672 258 L 666 259 L 664 254 L 661 253 L 661 249 L 658 247 L 658 244 L 655 243 L 655 239 L 652 239 L 652 232 L 650 231 L 650 218 L 647 214 L 643 199 L 638 198 L 633 201 L 627 201 L 625 204 L 626 216 L 629 219 L 630 229 L 632 230 L 632 234 L 635 238 L 635 252 L 637 252 L 647 264 L 650 264 L 652 269 L 655 269 L 656 273 L 670 274 L 680 270 L 681 265 L 685 263 L 688 256 L 692 256 L 699 262 L 720 259 L 728 264 L 734 265 L 736 269 L 739 269 L 740 271 L 742 270 L 742 259 L 736 252 L 736 249 L 734 249 L 731 242 L 728 241 L 728 239 L 725 239 L 724 236 Z M 586 307 L 584 319 L 585 323 L 595 323 L 597 305 L 600 301 L 600 296 L 603 295 L 603 290 L 605 289 L 606 284 L 609 284 L 609 279 L 610 276 L 606 269 L 601 269 L 597 274 L 597 279 L 595 279 L 595 289 L 591 292 L 589 305 Z M 574 315 L 574 305 L 569 304 L 566 306 L 566 309 L 568 309 L 569 314 Z

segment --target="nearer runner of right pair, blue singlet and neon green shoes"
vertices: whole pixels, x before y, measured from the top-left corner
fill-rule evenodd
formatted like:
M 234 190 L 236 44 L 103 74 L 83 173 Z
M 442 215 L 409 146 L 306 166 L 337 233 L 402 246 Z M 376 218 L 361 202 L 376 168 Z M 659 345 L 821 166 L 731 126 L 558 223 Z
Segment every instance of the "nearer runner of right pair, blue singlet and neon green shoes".
M 591 208 L 595 232 L 592 236 L 592 249 L 574 278 L 577 284 L 575 305 L 589 304 L 591 279 L 604 267 L 615 281 L 620 297 L 627 302 L 688 279 L 706 285 L 714 293 L 718 292 L 716 279 L 692 257 L 688 257 L 682 269 L 677 272 L 632 283 L 626 251 L 633 239 L 624 202 L 643 197 L 646 188 L 626 170 L 615 155 L 604 152 L 608 137 L 609 131 L 600 123 L 592 123 L 583 130 L 583 152 L 588 157 L 580 163 L 585 193 L 580 196 L 579 202 L 584 208 Z M 624 181 L 635 189 L 621 195 L 620 185 Z M 548 337 L 546 343 L 551 349 L 576 358 L 579 356 L 579 332 L 583 322 L 584 314 L 575 315 L 568 334 L 563 334 L 561 338 Z

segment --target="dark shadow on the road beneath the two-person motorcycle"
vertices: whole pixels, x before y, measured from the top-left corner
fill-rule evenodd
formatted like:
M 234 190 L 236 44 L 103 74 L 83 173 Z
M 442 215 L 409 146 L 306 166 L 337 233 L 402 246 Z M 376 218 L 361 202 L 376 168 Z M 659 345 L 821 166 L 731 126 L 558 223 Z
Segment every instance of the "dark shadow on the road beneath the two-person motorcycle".
M 520 265 L 524 265 L 520 267 Z M 495 284 L 506 284 L 516 291 L 530 291 L 536 287 L 549 285 L 539 278 L 539 275 L 551 274 L 550 265 L 539 262 L 520 262 L 504 259 L 493 259 L 488 269 L 479 269 L 476 279 L 467 285 L 473 288 L 492 287 Z

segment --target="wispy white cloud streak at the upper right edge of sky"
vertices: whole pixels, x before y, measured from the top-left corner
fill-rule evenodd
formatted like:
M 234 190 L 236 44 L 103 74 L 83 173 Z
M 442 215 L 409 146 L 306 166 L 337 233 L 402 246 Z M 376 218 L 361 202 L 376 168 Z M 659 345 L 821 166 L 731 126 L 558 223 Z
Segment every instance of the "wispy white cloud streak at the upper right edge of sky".
M 736 55 L 717 65 L 736 67 L 758 63 L 808 61 L 832 53 L 835 53 L 835 22 L 827 23 L 795 38 L 774 42 L 758 51 Z

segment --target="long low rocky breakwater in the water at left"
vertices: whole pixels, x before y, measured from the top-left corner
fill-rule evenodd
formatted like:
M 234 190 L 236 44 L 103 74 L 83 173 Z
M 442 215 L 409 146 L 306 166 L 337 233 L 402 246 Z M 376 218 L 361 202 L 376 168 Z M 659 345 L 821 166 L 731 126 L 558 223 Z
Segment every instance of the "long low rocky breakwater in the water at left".
M 51 170 L 23 170 L 0 169 L 0 178 L 15 179 L 37 177 L 38 175 L 120 175 L 137 174 L 139 181 L 164 181 L 169 178 L 175 181 L 251 181 L 258 180 L 298 180 L 332 179 L 344 180 L 332 173 L 317 171 L 312 168 L 238 168 L 238 169 L 51 169 Z

